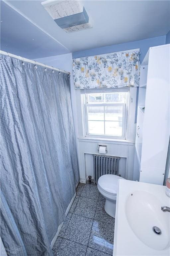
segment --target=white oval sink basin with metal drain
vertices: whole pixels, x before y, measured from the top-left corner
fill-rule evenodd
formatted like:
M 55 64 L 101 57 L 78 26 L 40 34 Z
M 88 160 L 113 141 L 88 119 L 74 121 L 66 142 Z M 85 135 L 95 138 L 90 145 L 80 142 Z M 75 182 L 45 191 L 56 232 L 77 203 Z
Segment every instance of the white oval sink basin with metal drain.
M 164 250 L 170 246 L 170 213 L 162 212 L 162 202 L 147 191 L 131 192 L 125 202 L 125 214 L 128 224 L 137 238 L 155 250 Z M 156 234 L 153 227 L 161 230 Z

